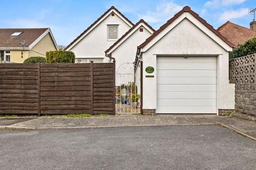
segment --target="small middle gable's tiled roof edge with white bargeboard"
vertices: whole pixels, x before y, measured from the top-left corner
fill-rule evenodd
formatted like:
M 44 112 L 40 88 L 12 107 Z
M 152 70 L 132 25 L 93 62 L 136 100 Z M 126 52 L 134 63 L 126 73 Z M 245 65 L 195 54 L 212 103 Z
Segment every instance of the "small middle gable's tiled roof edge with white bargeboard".
M 127 39 L 128 37 L 130 37 L 130 36 L 132 35 L 132 33 L 130 34 L 130 32 L 133 32 L 133 30 L 135 31 L 135 30 L 136 30 L 135 28 L 137 28 L 138 25 L 141 26 L 142 23 L 145 24 L 145 26 L 146 26 L 145 28 L 146 28 L 149 32 L 153 33 L 153 32 L 156 31 L 156 30 L 155 30 L 154 28 L 152 28 L 147 22 L 145 22 L 144 20 L 141 19 L 139 22 L 137 22 L 135 25 L 133 25 L 133 27 L 132 27 L 130 30 L 128 30 L 121 38 L 119 38 L 112 46 L 110 46 L 110 47 L 106 50 L 105 53 L 107 54 L 111 49 L 117 48 L 119 45 L 121 45 L 121 44 L 122 44 L 121 41 Z

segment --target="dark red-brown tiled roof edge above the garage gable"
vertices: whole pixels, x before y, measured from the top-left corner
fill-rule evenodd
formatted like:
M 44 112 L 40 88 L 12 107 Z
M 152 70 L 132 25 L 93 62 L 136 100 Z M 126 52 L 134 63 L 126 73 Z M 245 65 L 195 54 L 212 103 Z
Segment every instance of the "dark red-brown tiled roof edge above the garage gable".
M 216 36 L 218 36 L 222 41 L 224 41 L 228 46 L 230 47 L 234 47 L 234 45 L 232 43 L 230 43 L 227 38 L 223 37 L 219 31 L 215 30 L 212 25 L 210 25 L 209 23 L 207 23 L 204 19 L 202 19 L 197 13 L 195 13 L 194 11 L 191 10 L 191 8 L 189 6 L 185 6 L 183 7 L 183 9 L 178 12 L 177 14 L 175 14 L 173 16 L 173 18 L 171 18 L 170 20 L 168 20 L 164 25 L 162 25 L 156 32 L 153 33 L 153 35 L 151 35 L 149 38 L 146 39 L 146 41 L 144 43 L 142 43 L 140 46 L 138 46 L 138 48 L 143 48 L 145 47 L 152 39 L 154 39 L 160 32 L 162 32 L 166 27 L 168 27 L 168 25 L 170 25 L 173 21 L 175 21 L 177 18 L 179 18 L 179 16 L 181 16 L 183 13 L 188 12 L 191 15 L 193 15 L 199 22 L 201 22 L 206 28 L 208 28 L 209 30 L 211 30 Z

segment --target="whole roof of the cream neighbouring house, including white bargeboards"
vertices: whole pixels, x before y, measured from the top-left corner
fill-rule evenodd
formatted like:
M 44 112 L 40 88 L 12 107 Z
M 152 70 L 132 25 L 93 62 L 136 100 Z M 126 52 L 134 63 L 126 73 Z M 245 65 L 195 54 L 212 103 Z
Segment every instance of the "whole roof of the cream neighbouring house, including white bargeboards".
M 21 32 L 19 36 L 11 36 L 14 32 Z M 58 46 L 50 28 L 6 28 L 0 29 L 0 48 L 19 49 L 21 40 L 25 40 L 25 49 L 33 48 L 47 33 L 50 33 L 55 47 Z

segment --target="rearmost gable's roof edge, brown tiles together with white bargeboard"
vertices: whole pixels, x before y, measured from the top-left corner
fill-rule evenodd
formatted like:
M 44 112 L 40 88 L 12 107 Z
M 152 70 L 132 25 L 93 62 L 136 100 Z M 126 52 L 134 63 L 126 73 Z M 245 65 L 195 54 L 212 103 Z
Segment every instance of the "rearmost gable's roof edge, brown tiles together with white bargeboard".
M 103 14 L 100 16 L 100 18 L 98 18 L 96 21 L 94 21 L 86 30 L 84 30 L 84 32 L 81 33 L 81 35 L 79 35 L 76 39 L 74 39 L 64 50 L 69 50 L 69 48 L 70 48 L 71 46 L 74 46 L 76 43 L 78 43 L 78 41 L 79 41 L 80 38 L 83 38 L 87 33 L 89 33 L 89 32 L 91 31 L 91 29 L 92 29 L 93 27 L 97 26 L 97 25 L 101 22 L 101 20 L 104 19 L 104 18 L 107 16 L 107 14 L 108 14 L 109 12 L 111 12 L 111 11 L 117 12 L 117 14 L 121 15 L 121 19 L 123 18 L 123 20 L 124 20 L 127 24 L 129 24 L 130 27 L 133 27 L 134 24 L 133 24 L 129 19 L 127 19 L 121 12 L 119 12 L 119 11 L 117 10 L 117 8 L 115 8 L 115 6 L 111 6 L 105 13 L 103 13 Z

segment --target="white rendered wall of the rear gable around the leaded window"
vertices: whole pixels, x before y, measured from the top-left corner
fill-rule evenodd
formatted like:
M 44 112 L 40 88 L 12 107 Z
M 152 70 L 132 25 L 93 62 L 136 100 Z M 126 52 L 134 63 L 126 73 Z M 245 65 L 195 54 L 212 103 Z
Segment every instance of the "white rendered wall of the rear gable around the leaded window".
M 131 27 L 119 16 L 109 14 L 105 20 L 89 32 L 81 41 L 70 49 L 76 58 L 103 58 L 108 63 L 109 58 L 105 56 L 105 50 L 115 43 L 116 40 L 107 39 L 107 25 L 118 25 L 118 38 L 122 37 Z

